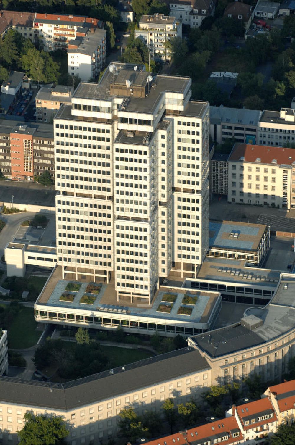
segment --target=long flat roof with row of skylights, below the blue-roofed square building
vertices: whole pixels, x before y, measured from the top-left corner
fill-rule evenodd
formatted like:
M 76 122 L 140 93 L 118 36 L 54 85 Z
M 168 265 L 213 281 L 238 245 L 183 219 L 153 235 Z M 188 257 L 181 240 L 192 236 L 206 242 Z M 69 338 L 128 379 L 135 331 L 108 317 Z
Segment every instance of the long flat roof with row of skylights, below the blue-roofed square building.
M 232 285 L 248 284 L 275 289 L 280 272 L 258 267 L 245 267 L 245 261 L 206 257 L 197 279 L 232 282 Z

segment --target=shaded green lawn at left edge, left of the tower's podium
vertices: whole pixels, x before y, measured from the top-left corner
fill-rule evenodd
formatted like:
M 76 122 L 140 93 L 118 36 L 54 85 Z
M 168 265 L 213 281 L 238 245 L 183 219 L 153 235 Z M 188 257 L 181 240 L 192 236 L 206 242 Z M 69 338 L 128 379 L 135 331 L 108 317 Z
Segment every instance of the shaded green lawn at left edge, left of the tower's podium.
M 9 348 L 25 349 L 34 346 L 41 335 L 36 331 L 37 323 L 33 307 L 23 307 L 8 327 Z

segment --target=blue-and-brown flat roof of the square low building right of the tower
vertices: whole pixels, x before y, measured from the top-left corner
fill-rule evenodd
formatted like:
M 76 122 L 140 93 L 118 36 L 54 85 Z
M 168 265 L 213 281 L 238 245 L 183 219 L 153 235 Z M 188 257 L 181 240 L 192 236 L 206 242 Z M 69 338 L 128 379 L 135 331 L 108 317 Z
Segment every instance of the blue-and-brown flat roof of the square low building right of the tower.
M 256 251 L 265 225 L 236 221 L 209 221 L 209 249 Z

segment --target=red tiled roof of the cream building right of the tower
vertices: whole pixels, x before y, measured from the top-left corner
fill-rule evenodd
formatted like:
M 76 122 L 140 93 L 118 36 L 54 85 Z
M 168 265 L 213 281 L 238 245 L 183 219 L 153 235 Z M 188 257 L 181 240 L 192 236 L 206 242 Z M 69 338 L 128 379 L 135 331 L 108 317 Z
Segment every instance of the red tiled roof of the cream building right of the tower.
M 240 144 L 236 143 L 229 155 L 228 161 L 239 161 L 244 156 L 244 162 L 255 162 L 260 158 L 262 164 L 271 164 L 273 159 L 276 163 L 291 165 L 295 162 L 294 148 L 270 147 L 263 145 Z M 289 159 L 291 158 L 291 159 Z

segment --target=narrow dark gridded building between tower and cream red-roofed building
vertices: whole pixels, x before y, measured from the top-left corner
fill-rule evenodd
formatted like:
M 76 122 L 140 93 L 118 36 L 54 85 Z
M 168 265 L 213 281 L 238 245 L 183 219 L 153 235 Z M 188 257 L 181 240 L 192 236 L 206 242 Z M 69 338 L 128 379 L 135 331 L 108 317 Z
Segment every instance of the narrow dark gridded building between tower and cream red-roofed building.
M 211 161 L 211 192 L 228 194 L 228 154 L 214 153 Z

